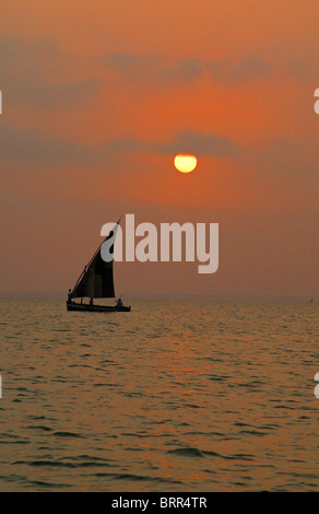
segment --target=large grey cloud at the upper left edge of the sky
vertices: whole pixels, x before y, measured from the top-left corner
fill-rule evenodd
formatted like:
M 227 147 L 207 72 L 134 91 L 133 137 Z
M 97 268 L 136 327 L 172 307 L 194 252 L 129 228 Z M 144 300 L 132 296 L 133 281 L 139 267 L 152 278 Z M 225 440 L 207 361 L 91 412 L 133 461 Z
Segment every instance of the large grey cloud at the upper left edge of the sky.
M 71 57 L 62 54 L 51 37 L 36 42 L 1 37 L 0 60 L 3 95 L 17 105 L 69 107 L 94 95 L 103 85 L 97 79 L 57 80 L 70 67 Z

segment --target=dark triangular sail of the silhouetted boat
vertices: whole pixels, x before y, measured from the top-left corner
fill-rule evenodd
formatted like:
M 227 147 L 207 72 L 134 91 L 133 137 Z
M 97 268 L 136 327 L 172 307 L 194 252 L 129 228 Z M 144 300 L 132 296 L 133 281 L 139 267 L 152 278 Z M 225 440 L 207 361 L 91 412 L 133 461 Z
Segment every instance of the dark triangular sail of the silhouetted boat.
M 115 231 L 116 232 L 116 231 Z M 105 241 L 114 233 L 111 232 Z M 102 246 L 102 245 L 101 245 Z M 113 260 L 105 262 L 101 257 L 101 246 L 92 257 L 71 292 L 72 299 L 113 299 L 115 297 L 113 280 Z

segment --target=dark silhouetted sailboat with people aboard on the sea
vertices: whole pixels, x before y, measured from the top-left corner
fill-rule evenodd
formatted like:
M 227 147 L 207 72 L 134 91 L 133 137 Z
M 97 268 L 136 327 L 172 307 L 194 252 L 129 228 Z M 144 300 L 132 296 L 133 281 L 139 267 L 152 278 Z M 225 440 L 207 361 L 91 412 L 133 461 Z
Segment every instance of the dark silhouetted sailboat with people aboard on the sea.
M 113 260 L 106 262 L 101 256 L 101 247 L 109 237 L 116 234 L 120 220 L 116 223 L 114 230 L 102 242 L 93 255 L 88 265 L 80 274 L 72 291 L 69 291 L 67 300 L 67 311 L 81 311 L 91 313 L 110 313 L 110 312 L 130 312 L 130 305 L 123 305 L 121 300 L 117 305 L 94 305 L 94 299 L 114 299 L 114 277 Z M 91 299 L 90 303 L 84 303 L 83 299 Z M 81 299 L 81 302 L 74 302 L 73 299 Z

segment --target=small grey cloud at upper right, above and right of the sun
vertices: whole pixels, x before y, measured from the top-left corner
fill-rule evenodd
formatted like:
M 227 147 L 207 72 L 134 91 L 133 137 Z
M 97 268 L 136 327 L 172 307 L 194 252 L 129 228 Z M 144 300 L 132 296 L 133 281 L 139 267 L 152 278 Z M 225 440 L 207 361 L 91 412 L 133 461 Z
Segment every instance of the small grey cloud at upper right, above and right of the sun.
M 270 63 L 256 55 L 245 57 L 237 62 L 229 59 L 210 61 L 208 69 L 214 81 L 235 84 L 251 79 L 263 79 L 273 72 Z

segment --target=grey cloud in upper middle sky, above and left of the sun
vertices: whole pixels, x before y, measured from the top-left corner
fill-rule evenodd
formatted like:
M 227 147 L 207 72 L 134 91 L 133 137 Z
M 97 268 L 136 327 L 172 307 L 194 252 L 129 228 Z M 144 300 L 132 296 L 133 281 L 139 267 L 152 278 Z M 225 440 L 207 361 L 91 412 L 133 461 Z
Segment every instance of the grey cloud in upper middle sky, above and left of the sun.
M 168 59 L 156 54 L 115 52 L 103 58 L 104 62 L 116 70 L 126 81 L 139 85 L 170 85 L 176 82 L 191 83 L 199 79 L 204 70 L 199 59 Z

